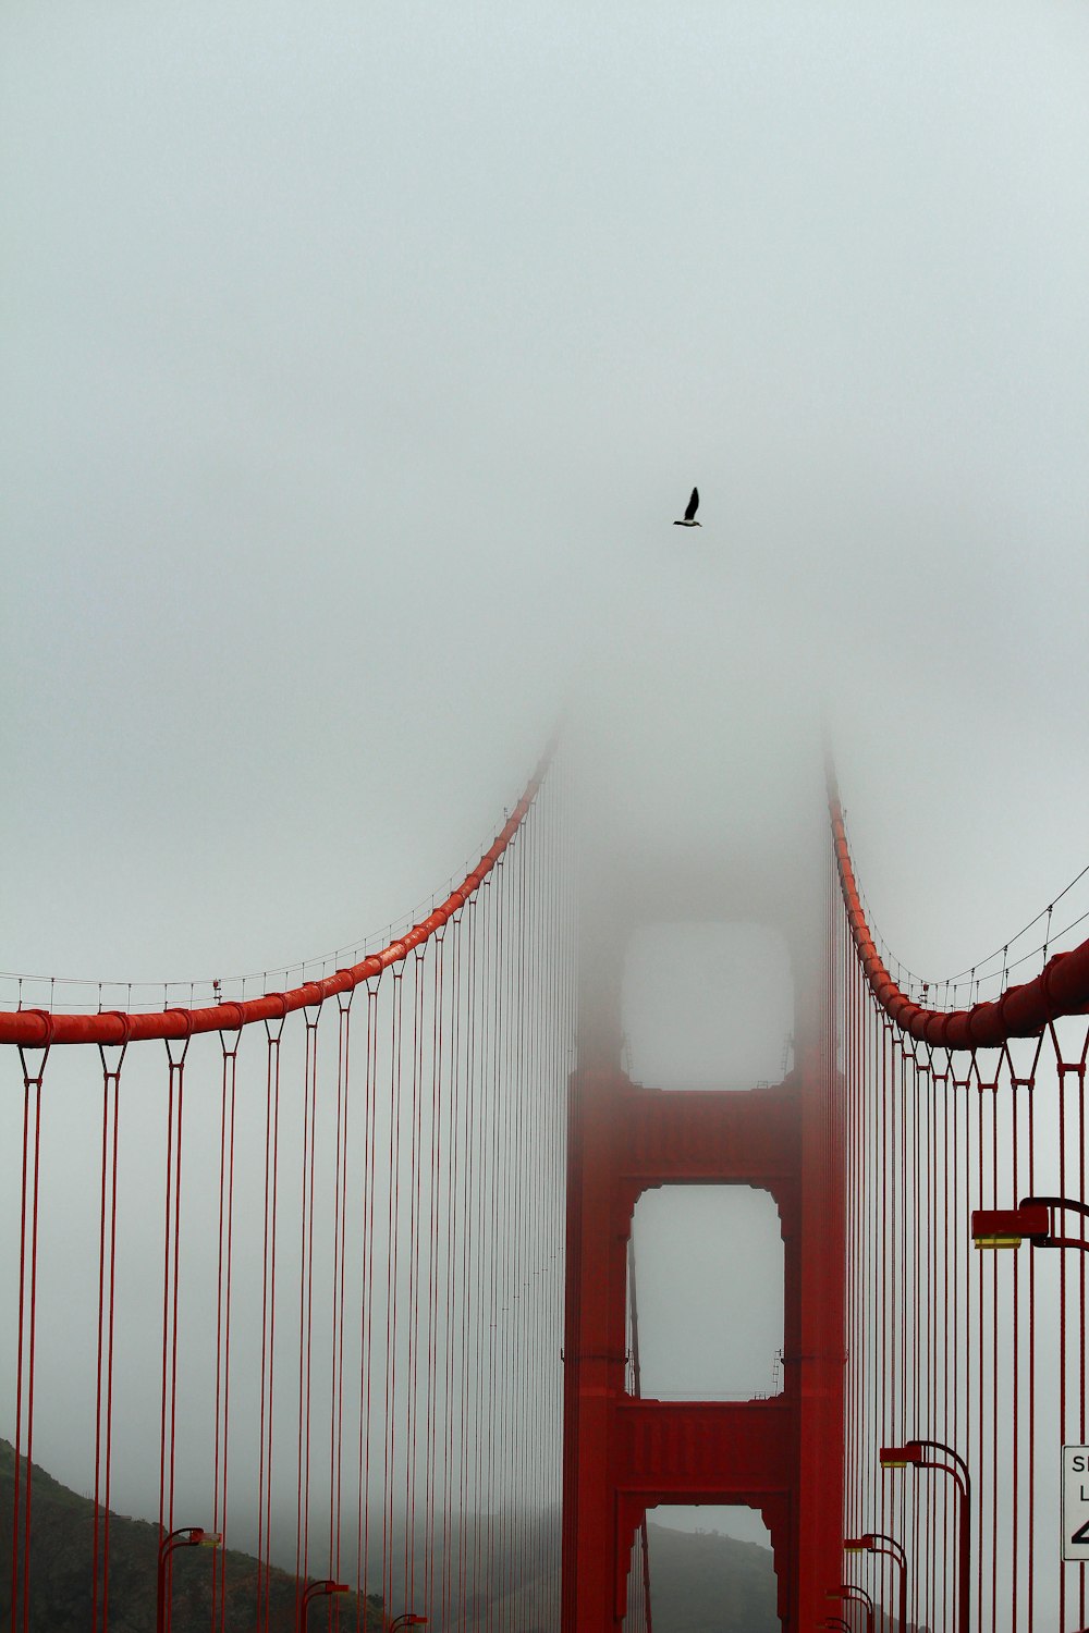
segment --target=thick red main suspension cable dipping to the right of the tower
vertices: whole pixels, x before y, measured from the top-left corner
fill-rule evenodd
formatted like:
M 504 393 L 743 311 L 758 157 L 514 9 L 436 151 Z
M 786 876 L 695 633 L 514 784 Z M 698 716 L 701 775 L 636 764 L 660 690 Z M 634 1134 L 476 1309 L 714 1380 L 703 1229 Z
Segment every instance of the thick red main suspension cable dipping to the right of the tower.
M 870 934 L 851 865 L 842 810 L 829 777 L 828 813 L 844 908 L 859 963 L 890 1021 L 921 1043 L 937 1048 L 991 1048 L 1011 1037 L 1033 1037 L 1058 1016 L 1089 1012 L 1089 941 L 1056 952 L 1033 981 L 1009 986 L 996 1003 L 970 1009 L 927 1009 L 916 1004 L 888 973 Z

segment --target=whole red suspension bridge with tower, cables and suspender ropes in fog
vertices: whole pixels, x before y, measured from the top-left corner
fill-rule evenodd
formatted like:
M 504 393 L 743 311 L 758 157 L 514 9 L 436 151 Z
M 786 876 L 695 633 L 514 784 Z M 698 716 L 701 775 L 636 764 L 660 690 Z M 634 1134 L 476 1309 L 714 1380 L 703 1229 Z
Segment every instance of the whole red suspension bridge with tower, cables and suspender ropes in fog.
M 1017 983 L 1007 957 L 993 993 L 893 975 L 833 785 L 826 877 L 704 913 L 787 939 L 793 1065 L 666 1091 L 625 1070 L 643 883 L 580 877 L 545 763 L 374 950 L 157 994 L 20 983 L 5 1625 L 41 1625 L 41 1470 L 75 1468 L 91 1633 L 119 1514 L 157 1522 L 176 1633 L 194 1569 L 222 1630 L 650 1630 L 647 1512 L 676 1502 L 759 1511 L 790 1633 L 1086 1626 L 1060 1448 L 1087 1439 L 1089 942 L 1051 955 L 1048 910 Z M 774 1202 L 779 1393 L 642 1393 L 632 1220 L 679 1184 Z

